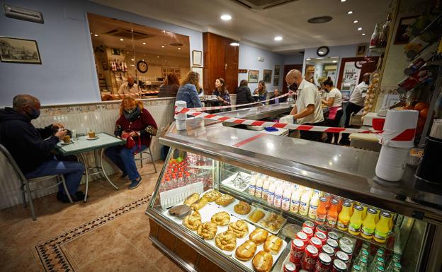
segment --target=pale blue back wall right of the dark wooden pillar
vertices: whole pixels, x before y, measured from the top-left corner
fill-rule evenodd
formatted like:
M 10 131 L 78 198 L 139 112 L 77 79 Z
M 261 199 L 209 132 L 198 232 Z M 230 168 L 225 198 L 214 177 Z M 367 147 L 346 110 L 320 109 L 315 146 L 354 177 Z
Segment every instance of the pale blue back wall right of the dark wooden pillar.
M 258 57 L 263 57 L 264 61 L 258 61 Z M 280 66 L 280 79 L 278 86 L 273 86 L 273 75 L 275 74 L 275 65 Z M 239 62 L 238 69 L 259 70 L 259 80 L 263 79 L 263 69 L 272 70 L 271 83 L 266 83 L 267 92 L 273 92 L 274 88 L 281 90 L 283 86 L 282 74 L 284 71 L 284 58 L 280 54 L 276 54 L 264 49 L 252 47 L 250 45 L 239 45 Z M 243 79 L 248 79 L 248 73 L 238 74 L 238 83 Z M 249 88 L 253 92 L 258 88 L 258 83 L 249 83 Z

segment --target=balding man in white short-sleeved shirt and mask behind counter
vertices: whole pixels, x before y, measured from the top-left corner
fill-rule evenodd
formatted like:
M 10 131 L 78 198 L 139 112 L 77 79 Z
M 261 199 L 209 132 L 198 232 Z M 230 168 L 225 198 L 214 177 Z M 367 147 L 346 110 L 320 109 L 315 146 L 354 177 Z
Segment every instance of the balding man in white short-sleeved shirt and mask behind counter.
M 290 70 L 285 76 L 285 81 L 290 90 L 297 85 L 297 100 L 295 107 L 290 112 L 297 124 L 311 126 L 322 126 L 324 114 L 321 107 L 321 96 L 317 87 L 302 78 L 302 73 L 298 70 Z M 300 131 L 301 138 L 310 141 L 319 141 L 321 133 L 317 131 Z

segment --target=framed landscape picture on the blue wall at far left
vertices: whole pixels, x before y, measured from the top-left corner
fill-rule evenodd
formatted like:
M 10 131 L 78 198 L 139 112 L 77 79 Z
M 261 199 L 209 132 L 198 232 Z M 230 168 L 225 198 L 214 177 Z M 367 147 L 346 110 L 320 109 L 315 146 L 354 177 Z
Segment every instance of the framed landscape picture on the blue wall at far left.
M 36 40 L 0 37 L 0 61 L 41 64 Z

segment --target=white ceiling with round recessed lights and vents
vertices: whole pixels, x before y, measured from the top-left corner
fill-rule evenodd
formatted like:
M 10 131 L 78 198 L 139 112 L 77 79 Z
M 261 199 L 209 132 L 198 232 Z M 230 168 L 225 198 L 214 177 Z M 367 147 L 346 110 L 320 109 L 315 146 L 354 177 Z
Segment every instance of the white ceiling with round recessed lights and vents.
M 262 11 L 252 11 L 229 0 L 91 1 L 194 30 L 215 32 L 280 54 L 321 45 L 369 42 L 375 23 L 384 21 L 390 11 L 390 0 L 297 0 Z M 348 15 L 347 11 L 353 13 Z M 220 20 L 224 13 L 230 14 L 232 20 Z M 317 16 L 331 16 L 333 20 L 307 23 Z M 363 30 L 358 31 L 358 27 Z M 283 40 L 274 41 L 276 35 L 283 36 Z

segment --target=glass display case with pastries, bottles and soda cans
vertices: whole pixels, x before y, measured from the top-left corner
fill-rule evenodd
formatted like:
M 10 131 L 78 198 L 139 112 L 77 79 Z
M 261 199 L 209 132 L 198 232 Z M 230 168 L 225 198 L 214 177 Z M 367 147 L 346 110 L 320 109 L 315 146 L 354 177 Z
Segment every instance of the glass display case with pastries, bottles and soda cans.
M 439 271 L 438 204 L 373 182 L 375 152 L 187 126 L 160 138 L 171 149 L 146 211 L 187 271 Z

